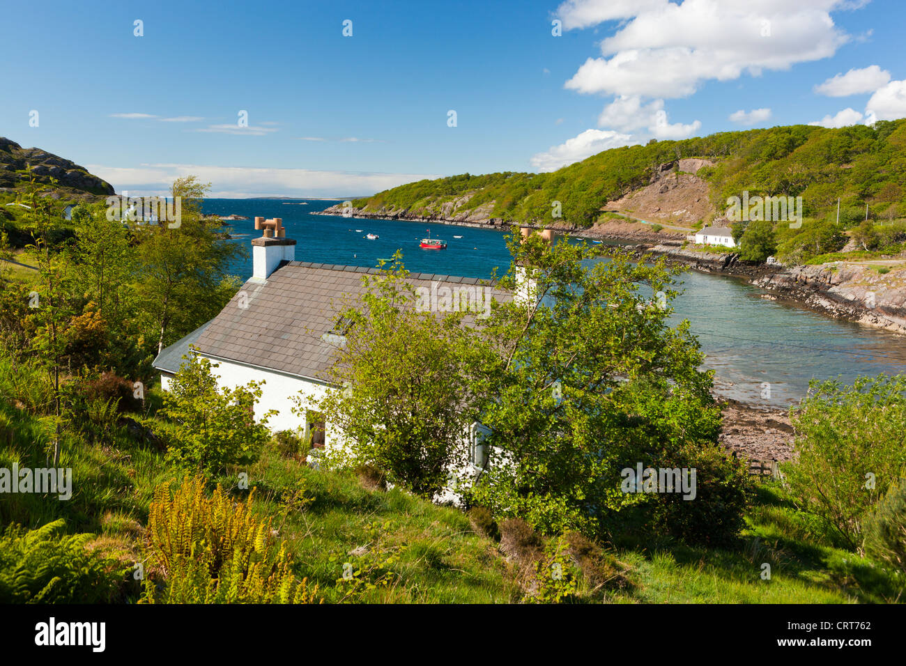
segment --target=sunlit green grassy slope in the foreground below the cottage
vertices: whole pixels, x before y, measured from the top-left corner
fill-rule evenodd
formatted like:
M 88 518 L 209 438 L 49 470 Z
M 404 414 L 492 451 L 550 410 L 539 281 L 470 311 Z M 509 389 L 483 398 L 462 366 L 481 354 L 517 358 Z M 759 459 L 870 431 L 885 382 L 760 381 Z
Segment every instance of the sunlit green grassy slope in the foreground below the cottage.
M 4 388 L 0 385 L 0 392 Z M 0 427 L 12 425 L 14 445 L 0 449 L 0 467 L 43 466 L 41 448 L 47 422 L 0 401 Z M 37 446 L 35 446 L 37 445 Z M 63 467 L 72 467 L 76 483 L 68 502 L 29 495 L 5 497 L 0 524 L 40 526 L 57 517 L 69 531 L 99 534 L 92 547 L 127 563 L 142 560 L 141 527 L 156 484 L 179 472 L 162 454 L 144 449 L 122 431 L 102 444 L 67 439 Z M 236 472 L 238 470 L 234 470 Z M 362 487 L 358 478 L 308 468 L 276 449 L 248 470 L 257 487 L 256 508 L 272 516 L 290 551 L 296 573 L 319 584 L 325 601 L 404 603 L 513 603 L 524 594 L 525 572 L 507 562 L 495 541 L 477 534 L 467 516 L 393 489 Z M 236 490 L 236 474 L 217 479 Z M 304 491 L 304 506 L 291 501 Z M 652 538 L 649 544 L 617 543 L 609 557 L 628 566 L 630 585 L 591 594 L 580 585 L 581 601 L 622 603 L 849 603 L 897 598 L 895 578 L 858 555 L 822 543 L 807 516 L 782 499 L 778 487 L 763 487 L 747 516 L 747 529 L 733 550 L 689 547 Z M 342 565 L 356 567 L 368 557 L 356 549 L 396 555 L 397 561 L 375 568 L 371 578 L 388 573 L 390 584 L 363 594 L 348 594 Z M 772 567 L 761 579 L 761 565 Z M 366 568 L 366 577 L 369 572 Z

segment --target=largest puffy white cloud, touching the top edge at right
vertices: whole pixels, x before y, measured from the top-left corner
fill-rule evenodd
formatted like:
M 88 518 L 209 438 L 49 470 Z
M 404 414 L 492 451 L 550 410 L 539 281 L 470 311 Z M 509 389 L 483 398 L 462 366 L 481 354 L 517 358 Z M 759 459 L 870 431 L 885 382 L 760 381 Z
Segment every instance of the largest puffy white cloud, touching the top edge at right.
M 848 41 L 834 25 L 838 0 L 571 0 L 565 28 L 624 23 L 565 87 L 583 93 L 686 97 L 708 80 L 786 70 L 827 58 Z

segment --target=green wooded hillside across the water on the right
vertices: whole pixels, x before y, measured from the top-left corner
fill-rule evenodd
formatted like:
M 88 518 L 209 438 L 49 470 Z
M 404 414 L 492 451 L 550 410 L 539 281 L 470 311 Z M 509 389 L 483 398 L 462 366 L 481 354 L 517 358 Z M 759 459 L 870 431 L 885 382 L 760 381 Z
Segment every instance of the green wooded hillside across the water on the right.
M 551 173 L 462 174 L 415 183 L 358 199 L 356 207 L 373 213 L 407 210 L 439 216 L 441 205 L 458 204 L 457 215 L 490 207 L 506 221 L 542 223 L 551 219 L 554 201 L 564 221 L 590 226 L 609 201 L 648 185 L 661 165 L 676 159 L 707 158 L 713 167 L 699 169 L 715 208 L 744 190 L 753 196 L 802 196 L 811 217 L 836 216 L 841 224 L 864 217 L 865 204 L 878 214 L 897 217 L 906 207 L 906 121 L 873 127 L 825 129 L 792 125 L 764 130 L 728 131 L 680 141 L 649 142 L 605 150 Z M 892 211 L 892 212 L 889 212 Z

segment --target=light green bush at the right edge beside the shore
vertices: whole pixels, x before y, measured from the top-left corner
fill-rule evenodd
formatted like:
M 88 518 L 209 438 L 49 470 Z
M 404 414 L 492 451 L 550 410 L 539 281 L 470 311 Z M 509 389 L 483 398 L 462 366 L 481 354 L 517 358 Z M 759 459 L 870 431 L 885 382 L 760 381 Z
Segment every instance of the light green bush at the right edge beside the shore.
M 863 521 L 906 466 L 906 376 L 813 382 L 809 392 L 793 420 L 790 492 L 854 549 Z

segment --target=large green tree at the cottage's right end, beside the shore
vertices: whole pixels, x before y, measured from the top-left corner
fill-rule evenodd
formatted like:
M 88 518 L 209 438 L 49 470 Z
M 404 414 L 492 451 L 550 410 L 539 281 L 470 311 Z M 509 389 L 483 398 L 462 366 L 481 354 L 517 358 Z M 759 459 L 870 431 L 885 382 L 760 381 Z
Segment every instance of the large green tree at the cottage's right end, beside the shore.
M 719 409 L 689 323 L 668 323 L 675 272 L 617 248 L 516 236 L 501 286 L 515 289 L 525 270 L 536 287 L 477 323 L 487 342 L 471 393 L 492 434 L 469 501 L 545 533 L 600 536 L 623 511 L 668 501 L 621 492 L 622 469 L 638 462 L 706 466 L 706 486 L 736 478 L 726 457 L 699 455 L 717 449 Z M 738 525 L 745 491 L 733 490 L 738 501 L 711 497 Z

